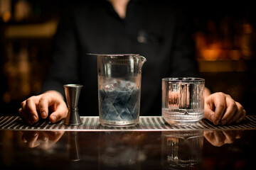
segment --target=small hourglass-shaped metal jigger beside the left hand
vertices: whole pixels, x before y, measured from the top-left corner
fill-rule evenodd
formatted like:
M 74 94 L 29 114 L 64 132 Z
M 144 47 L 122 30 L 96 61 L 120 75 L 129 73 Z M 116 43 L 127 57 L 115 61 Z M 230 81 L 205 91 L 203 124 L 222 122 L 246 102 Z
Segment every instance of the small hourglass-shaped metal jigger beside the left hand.
M 65 96 L 68 104 L 68 115 L 65 119 L 65 125 L 81 125 L 82 121 L 78 113 L 78 100 L 82 85 L 80 84 L 65 84 Z

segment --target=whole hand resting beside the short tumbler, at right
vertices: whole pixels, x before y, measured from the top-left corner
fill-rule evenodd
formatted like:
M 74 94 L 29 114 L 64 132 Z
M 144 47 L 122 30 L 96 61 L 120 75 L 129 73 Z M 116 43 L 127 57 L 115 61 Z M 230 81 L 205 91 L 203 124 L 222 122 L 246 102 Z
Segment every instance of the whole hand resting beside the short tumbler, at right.
M 246 111 L 240 103 L 234 101 L 228 94 L 221 92 L 206 94 L 204 111 L 204 117 L 214 125 L 240 123 L 246 115 Z

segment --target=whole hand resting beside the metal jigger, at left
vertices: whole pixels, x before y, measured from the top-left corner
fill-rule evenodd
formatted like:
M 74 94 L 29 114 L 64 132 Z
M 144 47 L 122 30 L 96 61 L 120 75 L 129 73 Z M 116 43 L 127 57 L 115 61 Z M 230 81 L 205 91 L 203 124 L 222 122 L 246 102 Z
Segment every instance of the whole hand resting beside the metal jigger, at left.
M 68 115 L 68 108 L 63 96 L 58 91 L 31 96 L 21 103 L 18 113 L 28 124 L 36 123 L 41 118 L 47 118 L 51 123 L 56 123 Z

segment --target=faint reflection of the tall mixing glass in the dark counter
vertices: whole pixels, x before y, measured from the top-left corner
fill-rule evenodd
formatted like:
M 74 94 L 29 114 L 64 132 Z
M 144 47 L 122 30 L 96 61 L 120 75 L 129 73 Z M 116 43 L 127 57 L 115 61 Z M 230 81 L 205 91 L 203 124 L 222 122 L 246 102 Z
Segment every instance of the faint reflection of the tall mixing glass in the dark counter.
M 99 168 L 139 169 L 140 132 L 101 132 Z

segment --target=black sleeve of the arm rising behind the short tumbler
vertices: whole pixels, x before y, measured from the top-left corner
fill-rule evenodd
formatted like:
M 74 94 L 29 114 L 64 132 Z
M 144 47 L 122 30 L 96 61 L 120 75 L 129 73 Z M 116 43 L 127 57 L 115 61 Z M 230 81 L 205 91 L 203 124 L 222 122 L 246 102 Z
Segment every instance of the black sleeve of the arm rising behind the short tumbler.
M 199 77 L 195 45 L 192 38 L 192 26 L 191 18 L 184 10 L 179 10 L 176 16 L 171 77 Z

